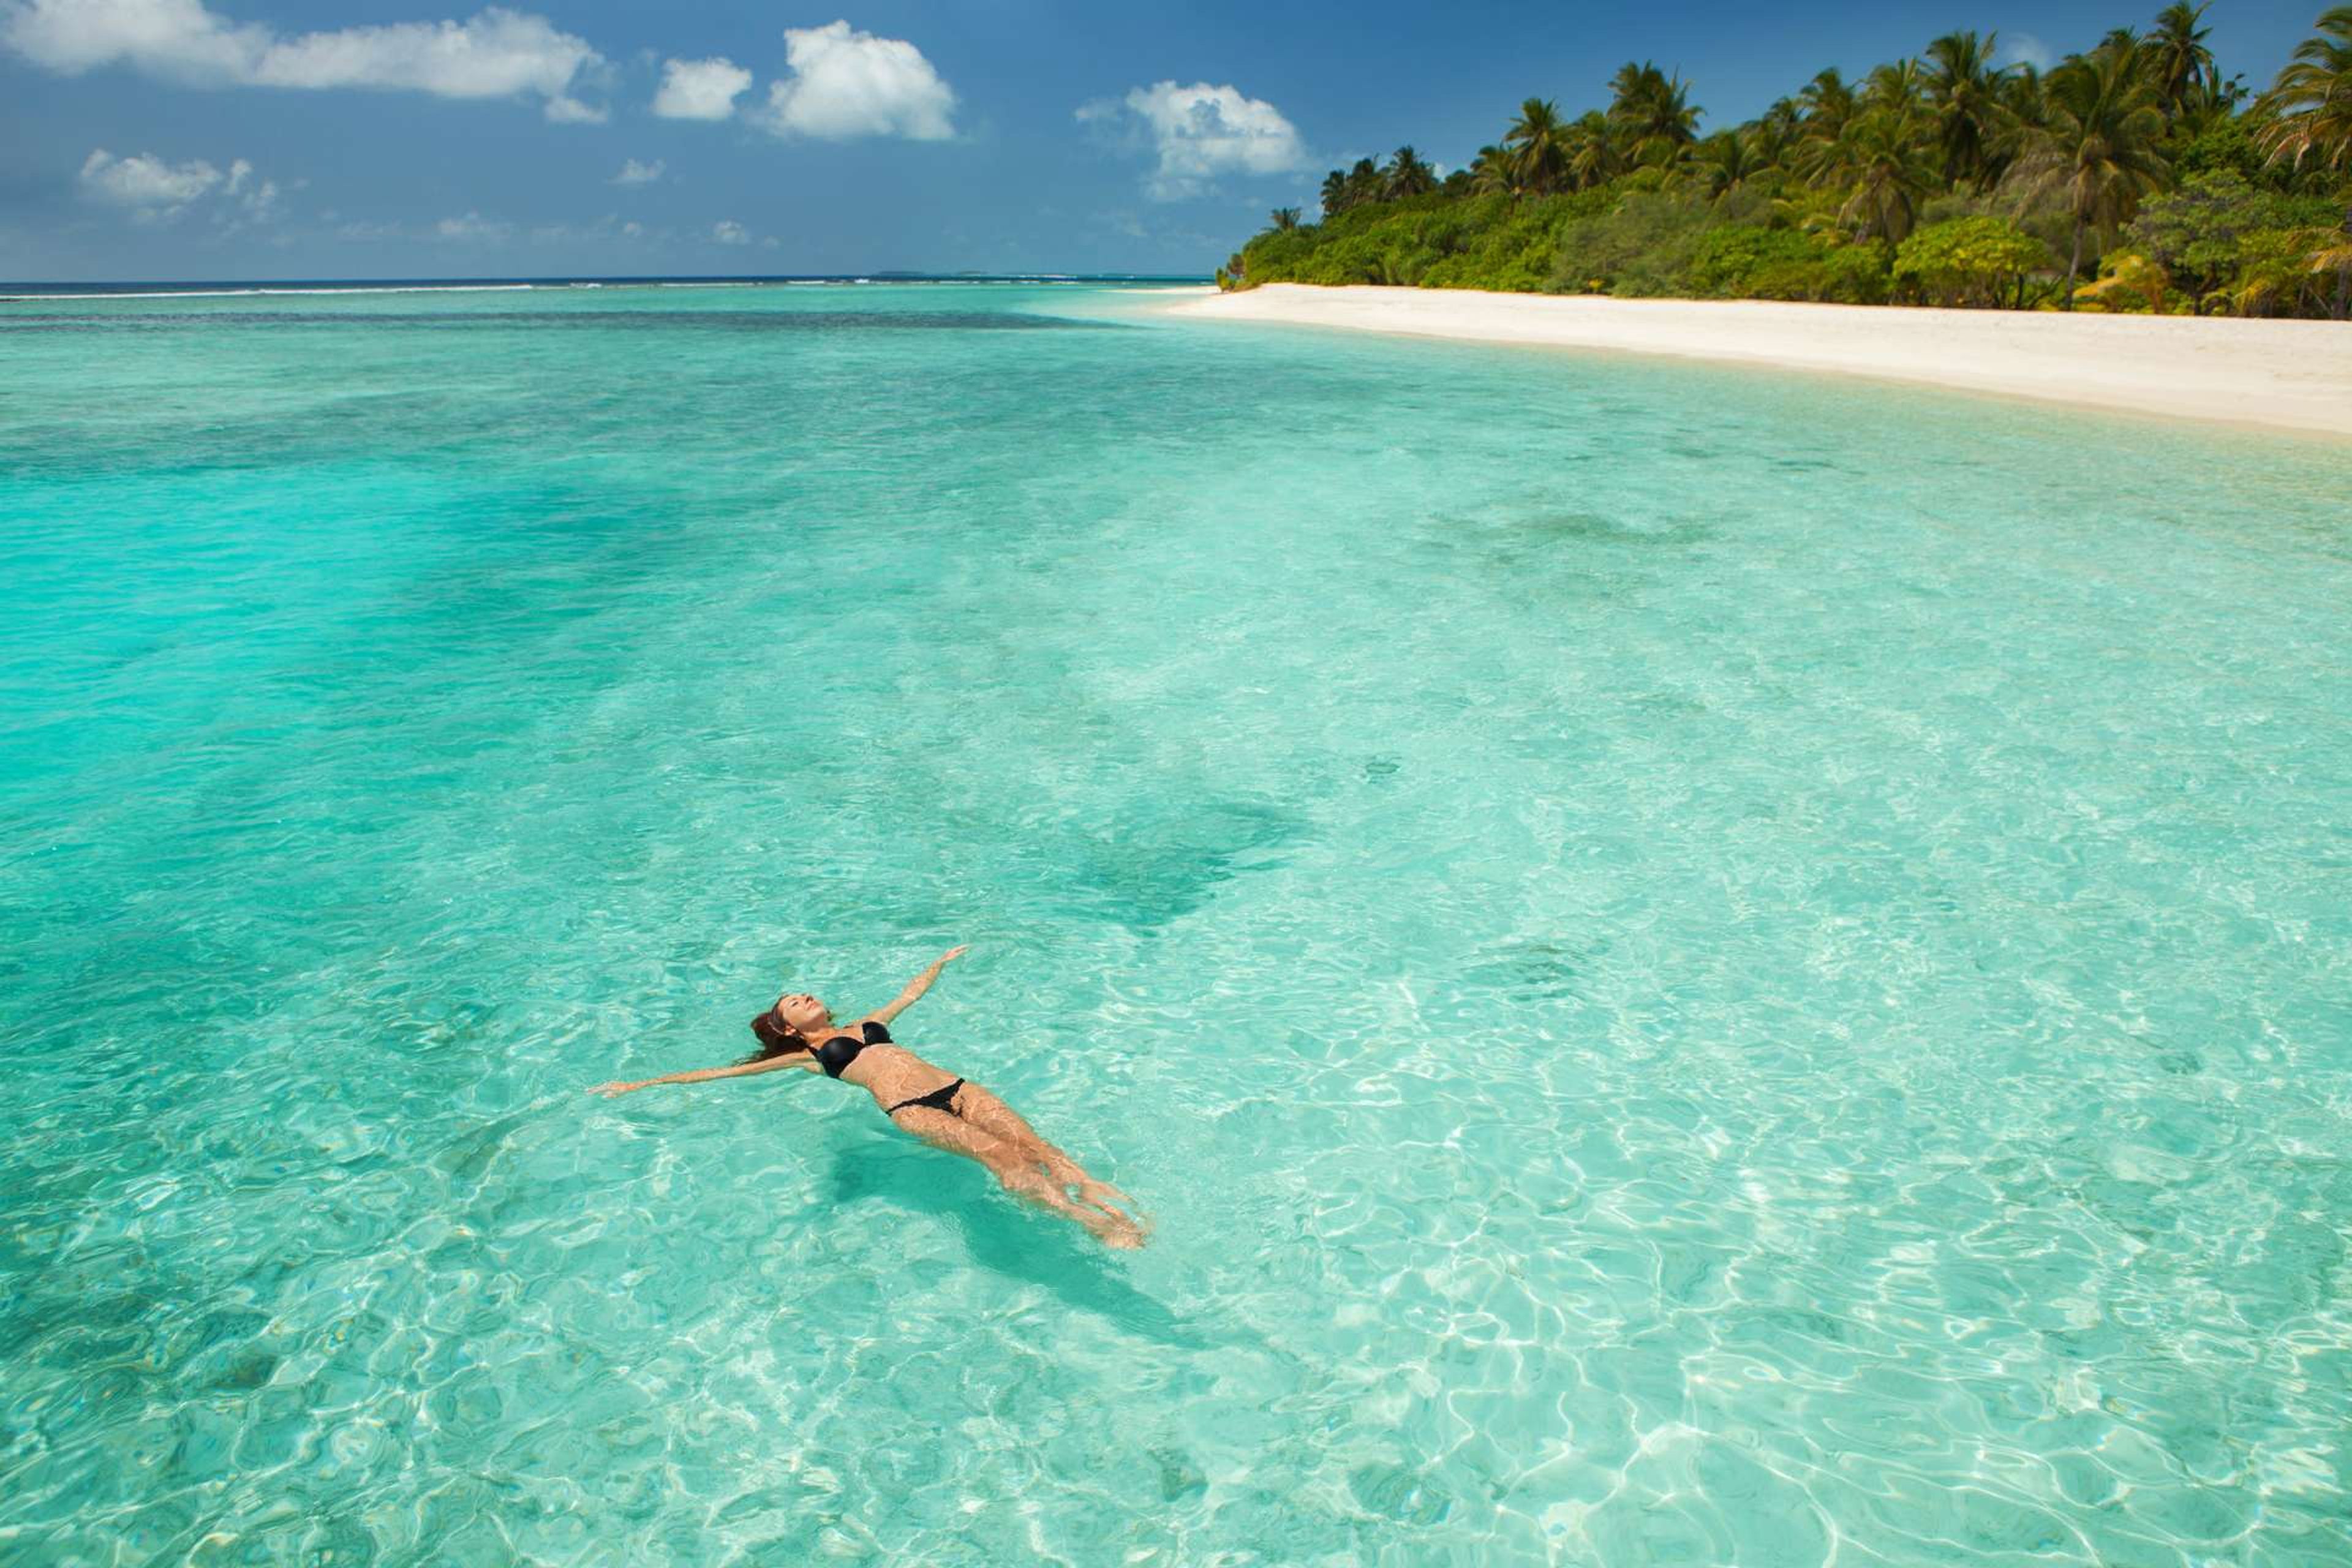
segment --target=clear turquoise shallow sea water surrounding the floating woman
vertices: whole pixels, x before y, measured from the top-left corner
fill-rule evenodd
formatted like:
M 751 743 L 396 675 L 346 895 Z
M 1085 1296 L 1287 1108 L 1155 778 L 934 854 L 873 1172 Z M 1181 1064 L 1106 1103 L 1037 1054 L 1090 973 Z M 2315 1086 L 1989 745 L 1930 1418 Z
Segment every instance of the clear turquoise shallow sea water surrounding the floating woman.
M 1150 299 L 0 306 L 0 1554 L 2352 1561 L 2352 451 Z

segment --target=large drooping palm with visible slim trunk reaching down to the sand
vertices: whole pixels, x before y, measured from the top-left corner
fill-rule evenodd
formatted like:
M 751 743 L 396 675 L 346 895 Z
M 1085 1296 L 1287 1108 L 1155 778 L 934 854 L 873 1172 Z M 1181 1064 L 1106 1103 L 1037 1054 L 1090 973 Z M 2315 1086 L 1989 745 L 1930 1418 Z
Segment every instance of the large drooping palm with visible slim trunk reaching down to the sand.
M 2112 242 L 2114 230 L 2140 207 L 2169 174 L 2164 153 L 2164 115 L 2157 89 L 2140 68 L 2138 49 L 2100 45 L 2091 54 L 2070 56 L 2046 78 L 2049 122 L 2039 129 L 2011 169 L 2023 200 L 2060 197 L 2074 219 L 2074 249 L 2065 263 L 2067 308 L 2074 308 L 2074 277 L 2082 275 L 2084 233 L 2098 230 Z

